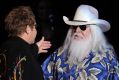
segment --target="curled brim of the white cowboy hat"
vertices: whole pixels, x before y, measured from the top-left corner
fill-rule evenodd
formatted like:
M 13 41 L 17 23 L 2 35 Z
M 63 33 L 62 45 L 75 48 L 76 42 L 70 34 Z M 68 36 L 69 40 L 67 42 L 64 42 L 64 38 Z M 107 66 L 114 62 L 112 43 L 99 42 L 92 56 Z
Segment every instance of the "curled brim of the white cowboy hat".
M 82 20 L 74 20 L 74 21 L 69 21 L 69 19 L 66 16 L 63 16 L 63 20 L 67 25 L 98 25 L 103 32 L 106 32 L 110 29 L 110 24 L 109 22 L 102 20 L 102 19 L 95 19 L 91 21 L 82 21 Z

